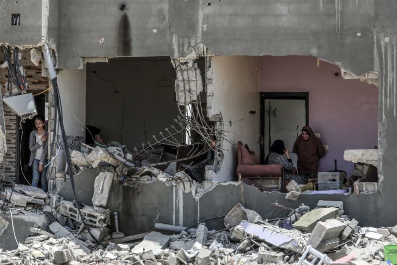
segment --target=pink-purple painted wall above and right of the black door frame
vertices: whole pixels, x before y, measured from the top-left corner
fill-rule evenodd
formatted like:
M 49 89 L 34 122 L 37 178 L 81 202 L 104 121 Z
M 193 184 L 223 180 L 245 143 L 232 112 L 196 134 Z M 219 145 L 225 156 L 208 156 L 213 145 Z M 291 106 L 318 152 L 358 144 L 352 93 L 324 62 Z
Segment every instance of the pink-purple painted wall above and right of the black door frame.
M 338 170 L 350 174 L 354 167 L 343 160 L 344 150 L 378 143 L 378 88 L 336 72 L 339 67 L 324 61 L 317 67 L 313 56 L 262 56 L 260 91 L 309 92 L 309 125 L 330 146 L 319 171 L 333 170 L 337 159 Z

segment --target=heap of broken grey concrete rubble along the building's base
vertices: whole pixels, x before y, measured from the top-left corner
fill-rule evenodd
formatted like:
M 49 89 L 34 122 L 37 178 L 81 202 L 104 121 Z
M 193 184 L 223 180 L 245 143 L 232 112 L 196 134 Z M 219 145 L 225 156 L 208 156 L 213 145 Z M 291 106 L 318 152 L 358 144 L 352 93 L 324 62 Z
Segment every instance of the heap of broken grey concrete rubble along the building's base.
M 103 174 L 101 179 L 106 178 Z M 25 203 L 21 197 L 26 199 L 25 206 L 16 205 Z M 41 199 L 37 200 L 40 203 L 35 199 Z M 106 205 L 106 194 L 102 197 L 96 194 L 94 201 Z M 96 242 L 83 227 L 73 202 L 53 193 L 47 196 L 40 189 L 15 185 L 13 191 L 3 193 L 2 218 L 9 218 L 7 211 L 13 212 L 14 220 L 19 215 L 45 212 L 51 224 L 48 229 L 31 227 L 17 248 L 0 251 L 0 262 L 9 265 L 299 265 L 319 257 L 324 264 L 334 261 L 332 264 L 381 265 L 387 264 L 383 261 L 383 246 L 397 244 L 397 226 L 360 227 L 357 220 L 344 215 L 341 201 L 320 200 L 315 209 L 304 204 L 296 209 L 273 205 L 286 210 L 287 217 L 263 220 L 258 212 L 237 204 L 224 216 L 225 228 L 218 231 L 210 231 L 201 223 L 195 229 L 182 227 L 179 230 L 182 232 L 173 235 L 153 231 L 132 236 L 119 231 L 111 233 L 110 212 L 99 206 L 84 205 L 80 209 L 82 218 L 99 241 Z M 117 223 L 115 227 L 118 230 Z

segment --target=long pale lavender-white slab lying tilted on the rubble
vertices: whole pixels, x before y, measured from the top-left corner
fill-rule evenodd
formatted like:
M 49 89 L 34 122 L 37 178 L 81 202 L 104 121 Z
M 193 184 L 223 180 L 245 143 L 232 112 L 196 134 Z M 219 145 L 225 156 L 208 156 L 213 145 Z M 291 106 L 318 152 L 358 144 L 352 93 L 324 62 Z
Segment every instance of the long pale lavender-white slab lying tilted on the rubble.
M 303 246 L 300 246 L 296 240 L 288 236 L 276 233 L 274 231 L 268 230 L 259 225 L 251 224 L 249 222 L 241 222 L 240 226 L 244 228 L 247 234 L 254 235 L 271 245 L 299 254 L 303 253 Z

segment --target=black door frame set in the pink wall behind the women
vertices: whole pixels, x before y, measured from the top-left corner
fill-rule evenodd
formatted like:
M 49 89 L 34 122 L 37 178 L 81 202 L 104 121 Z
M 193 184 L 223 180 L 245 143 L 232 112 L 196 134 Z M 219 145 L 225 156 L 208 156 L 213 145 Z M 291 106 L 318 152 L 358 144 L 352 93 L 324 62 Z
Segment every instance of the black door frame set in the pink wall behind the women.
M 260 161 L 265 163 L 265 100 L 266 99 L 303 99 L 306 108 L 306 124 L 309 125 L 309 92 L 260 92 Z

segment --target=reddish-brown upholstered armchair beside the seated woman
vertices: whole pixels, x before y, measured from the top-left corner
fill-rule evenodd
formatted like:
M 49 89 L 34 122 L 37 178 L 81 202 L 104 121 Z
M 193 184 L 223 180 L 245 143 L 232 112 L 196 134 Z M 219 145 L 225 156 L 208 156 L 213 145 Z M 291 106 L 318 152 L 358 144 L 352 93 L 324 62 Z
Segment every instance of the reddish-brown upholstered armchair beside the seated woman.
M 281 165 L 260 165 L 259 157 L 239 141 L 237 143 L 239 181 L 254 185 L 262 191 L 279 190 L 284 186 L 284 172 Z

